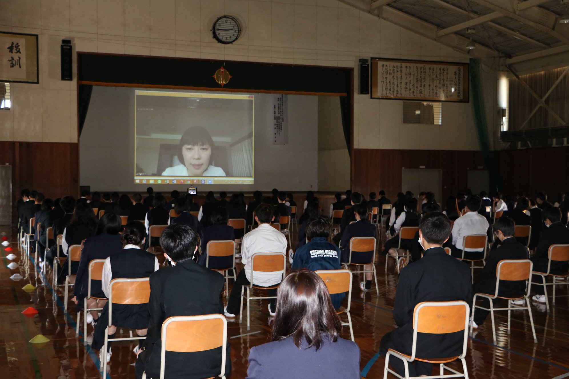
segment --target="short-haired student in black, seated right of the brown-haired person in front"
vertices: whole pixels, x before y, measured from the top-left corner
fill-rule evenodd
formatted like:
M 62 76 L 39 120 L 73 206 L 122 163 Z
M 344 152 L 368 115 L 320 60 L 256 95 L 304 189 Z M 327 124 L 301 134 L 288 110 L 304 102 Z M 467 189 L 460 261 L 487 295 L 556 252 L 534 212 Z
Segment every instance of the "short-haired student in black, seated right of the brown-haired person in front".
M 471 300 L 470 268 L 447 255 L 442 247 L 450 233 L 451 222 L 442 213 L 430 213 L 421 219 L 419 238 L 424 248 L 423 258 L 401 270 L 393 307 L 393 318 L 398 328 L 381 339 L 381 356 L 385 357 L 387 349 L 411 354 L 413 310 L 418 303 L 460 300 L 468 303 Z M 416 354 L 433 358 L 457 356 L 462 353 L 463 339 L 463 332 L 420 334 Z M 389 363 L 399 374 L 405 372 L 400 359 L 391 358 Z M 415 365 L 409 364 L 409 376 L 431 373 L 431 363 L 415 361 Z

